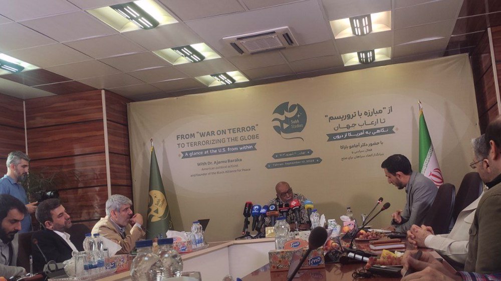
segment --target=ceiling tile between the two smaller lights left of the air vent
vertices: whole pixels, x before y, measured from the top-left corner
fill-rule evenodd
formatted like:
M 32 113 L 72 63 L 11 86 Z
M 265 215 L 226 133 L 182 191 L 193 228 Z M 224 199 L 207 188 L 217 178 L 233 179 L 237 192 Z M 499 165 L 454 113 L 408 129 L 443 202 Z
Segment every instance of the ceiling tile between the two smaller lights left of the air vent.
M 225 59 L 204 60 L 199 63 L 181 64 L 175 65 L 174 67 L 191 77 L 236 70 L 235 66 Z

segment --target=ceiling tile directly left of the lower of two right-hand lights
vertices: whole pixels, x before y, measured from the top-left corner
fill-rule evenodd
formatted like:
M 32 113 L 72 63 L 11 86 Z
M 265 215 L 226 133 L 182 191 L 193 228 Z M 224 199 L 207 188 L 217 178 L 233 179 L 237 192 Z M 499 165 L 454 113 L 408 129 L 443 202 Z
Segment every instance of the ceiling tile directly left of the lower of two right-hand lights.
M 284 49 L 281 52 L 289 62 L 332 56 L 338 53 L 336 49 L 334 49 L 332 40 L 317 44 L 292 47 Z

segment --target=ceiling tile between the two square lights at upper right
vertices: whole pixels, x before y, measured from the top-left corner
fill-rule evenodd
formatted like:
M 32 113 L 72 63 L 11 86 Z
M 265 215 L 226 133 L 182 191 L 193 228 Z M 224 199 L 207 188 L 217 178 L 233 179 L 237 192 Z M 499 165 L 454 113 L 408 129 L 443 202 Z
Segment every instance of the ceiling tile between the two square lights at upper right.
M 336 39 L 335 42 L 341 54 L 386 48 L 393 46 L 393 32 L 384 31 L 366 36 L 345 37 Z

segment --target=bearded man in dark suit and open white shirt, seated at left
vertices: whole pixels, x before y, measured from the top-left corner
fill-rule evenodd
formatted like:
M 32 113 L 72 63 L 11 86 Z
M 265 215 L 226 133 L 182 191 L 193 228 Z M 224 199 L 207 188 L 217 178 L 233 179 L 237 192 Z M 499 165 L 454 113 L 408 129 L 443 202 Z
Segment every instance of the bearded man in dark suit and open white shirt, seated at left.
M 35 213 L 37 220 L 44 226 L 44 230 L 35 232 L 32 236 L 33 267 L 36 272 L 41 271 L 47 260 L 63 262 L 71 258 L 73 251 L 82 251 L 82 244 L 74 242 L 66 230 L 71 227 L 70 215 L 59 199 L 47 199 L 39 204 Z M 43 251 L 40 252 L 39 248 Z

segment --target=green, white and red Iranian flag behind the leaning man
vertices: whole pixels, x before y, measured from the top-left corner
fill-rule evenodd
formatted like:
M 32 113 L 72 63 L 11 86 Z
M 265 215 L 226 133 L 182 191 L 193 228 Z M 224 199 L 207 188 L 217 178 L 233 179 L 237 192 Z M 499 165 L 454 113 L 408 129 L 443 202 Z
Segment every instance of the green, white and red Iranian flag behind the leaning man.
M 443 183 L 442 171 L 438 166 L 421 102 L 419 102 L 419 172 L 431 179 L 437 187 Z

